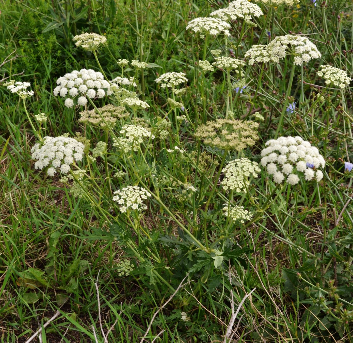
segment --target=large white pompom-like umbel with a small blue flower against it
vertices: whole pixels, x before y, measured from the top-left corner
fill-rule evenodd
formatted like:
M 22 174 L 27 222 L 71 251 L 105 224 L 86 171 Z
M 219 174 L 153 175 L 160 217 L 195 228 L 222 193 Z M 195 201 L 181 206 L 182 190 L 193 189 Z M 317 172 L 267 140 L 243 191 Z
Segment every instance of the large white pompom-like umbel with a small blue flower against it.
M 287 182 L 296 185 L 299 176 L 304 173 L 305 180 L 323 178 L 319 167 L 325 166 L 325 160 L 316 147 L 301 137 L 279 137 L 270 139 L 265 143 L 267 148 L 261 152 L 261 165 L 265 166 L 267 173 L 273 175 L 275 183 L 282 183 L 287 177 Z

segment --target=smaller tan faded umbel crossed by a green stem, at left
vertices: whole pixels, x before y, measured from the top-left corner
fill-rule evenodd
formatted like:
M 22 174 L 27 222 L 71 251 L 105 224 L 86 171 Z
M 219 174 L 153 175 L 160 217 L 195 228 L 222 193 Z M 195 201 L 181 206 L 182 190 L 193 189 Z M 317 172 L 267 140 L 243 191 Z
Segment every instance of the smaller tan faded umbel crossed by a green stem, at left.
M 126 112 L 125 107 L 114 106 L 112 104 L 108 104 L 103 106 L 102 108 L 98 108 L 98 111 L 101 112 L 102 117 L 110 128 L 115 126 L 117 118 L 125 118 L 129 115 Z M 80 112 L 80 118 L 78 121 L 80 123 L 90 124 L 95 127 L 107 129 L 107 125 L 102 120 L 102 117 L 98 114 L 97 110 L 94 109 L 90 111 Z

